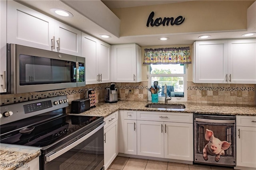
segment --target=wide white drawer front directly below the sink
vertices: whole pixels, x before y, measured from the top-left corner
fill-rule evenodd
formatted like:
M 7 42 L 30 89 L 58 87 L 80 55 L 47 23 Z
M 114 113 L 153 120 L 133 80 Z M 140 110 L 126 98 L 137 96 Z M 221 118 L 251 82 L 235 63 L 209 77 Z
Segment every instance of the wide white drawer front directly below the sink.
M 137 111 L 137 120 L 193 123 L 193 114 L 158 111 Z

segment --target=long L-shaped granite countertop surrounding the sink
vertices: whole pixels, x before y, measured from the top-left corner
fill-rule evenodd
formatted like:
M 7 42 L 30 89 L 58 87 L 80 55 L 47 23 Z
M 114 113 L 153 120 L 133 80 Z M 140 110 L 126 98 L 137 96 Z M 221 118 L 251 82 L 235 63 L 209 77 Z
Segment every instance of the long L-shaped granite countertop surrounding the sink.
M 107 117 L 118 110 L 138 110 L 138 111 L 164 111 L 164 112 L 182 112 L 198 114 L 216 114 L 216 115 L 248 115 L 256 116 L 255 105 L 227 105 L 227 104 L 197 104 L 187 102 L 168 102 L 168 104 L 183 104 L 185 109 L 158 109 L 145 107 L 148 102 L 137 101 L 118 101 L 117 103 L 97 103 L 96 107 L 80 113 L 80 115 L 96 115 Z M 157 104 L 164 104 L 158 102 Z M 72 114 L 72 113 L 70 113 Z M 76 114 L 77 115 L 77 114 Z

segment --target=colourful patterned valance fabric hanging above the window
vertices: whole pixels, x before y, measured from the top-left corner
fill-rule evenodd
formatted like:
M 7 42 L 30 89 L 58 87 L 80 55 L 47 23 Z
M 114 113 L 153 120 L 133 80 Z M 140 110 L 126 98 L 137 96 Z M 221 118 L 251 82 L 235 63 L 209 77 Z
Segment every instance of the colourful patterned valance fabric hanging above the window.
M 143 64 L 191 64 L 189 47 L 144 49 Z

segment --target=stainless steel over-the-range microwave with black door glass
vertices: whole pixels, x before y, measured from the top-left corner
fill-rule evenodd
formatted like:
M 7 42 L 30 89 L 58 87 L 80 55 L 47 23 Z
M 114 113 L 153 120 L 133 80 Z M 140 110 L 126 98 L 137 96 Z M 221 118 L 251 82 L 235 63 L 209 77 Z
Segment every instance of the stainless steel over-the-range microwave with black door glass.
M 85 58 L 7 44 L 7 93 L 85 86 Z

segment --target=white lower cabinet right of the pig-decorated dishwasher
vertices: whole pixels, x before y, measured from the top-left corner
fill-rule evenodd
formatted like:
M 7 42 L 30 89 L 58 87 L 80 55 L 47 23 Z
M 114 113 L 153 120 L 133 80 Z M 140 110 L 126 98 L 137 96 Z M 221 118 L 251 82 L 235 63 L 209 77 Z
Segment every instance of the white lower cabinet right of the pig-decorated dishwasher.
M 236 167 L 256 169 L 256 117 L 236 116 Z

